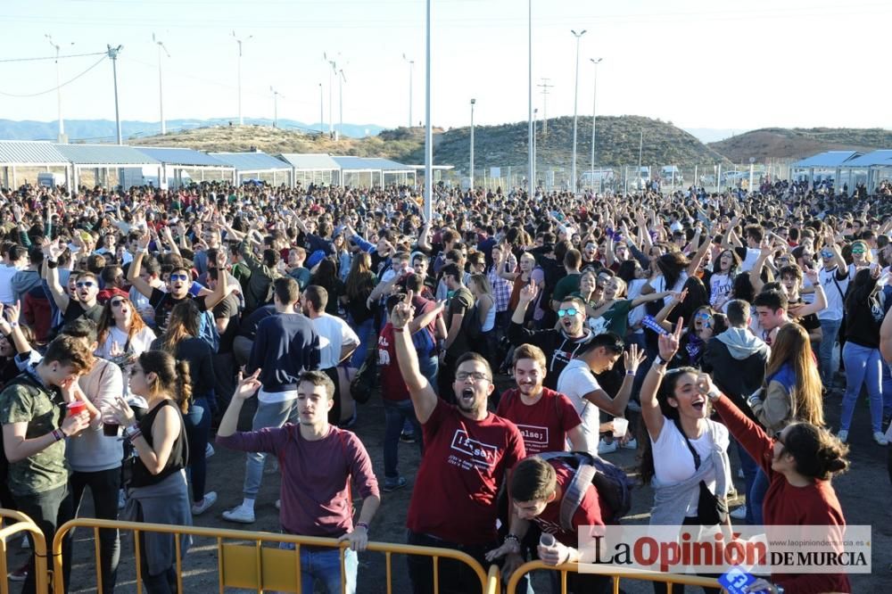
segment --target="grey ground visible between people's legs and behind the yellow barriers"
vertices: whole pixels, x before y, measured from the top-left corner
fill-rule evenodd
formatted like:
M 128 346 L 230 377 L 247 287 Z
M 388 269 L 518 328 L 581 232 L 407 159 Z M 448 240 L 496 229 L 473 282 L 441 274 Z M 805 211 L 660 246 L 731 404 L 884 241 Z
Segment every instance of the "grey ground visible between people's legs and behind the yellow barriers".
M 507 379 L 507 378 L 503 378 Z M 500 382 L 500 384 L 503 384 Z M 827 400 L 828 422 L 836 428 L 839 416 L 839 404 L 841 398 L 834 393 Z M 246 407 L 243 411 L 243 424 L 250 423 L 252 407 Z M 379 480 L 383 481 L 384 462 L 382 448 L 384 440 L 384 409 L 378 395 L 359 408 L 359 418 L 355 426 L 356 433 L 365 443 L 374 461 L 375 471 Z M 889 592 L 892 591 L 892 523 L 889 522 L 889 500 L 892 487 L 886 468 L 887 448 L 881 448 L 871 440 L 869 413 L 866 401 L 862 400 L 855 413 L 855 421 L 851 431 L 852 468 L 850 472 L 839 477 L 834 486 L 842 507 L 846 513 L 848 524 L 871 524 L 873 527 L 873 557 L 872 573 L 868 575 L 851 576 L 853 591 L 855 592 Z M 731 450 L 734 450 L 733 448 Z M 620 450 L 609 454 L 608 459 L 620 466 L 624 466 L 630 474 L 634 473 L 636 466 L 636 453 L 632 450 Z M 736 459 L 731 455 L 735 464 Z M 371 540 L 384 542 L 405 542 L 406 537 L 406 511 L 409 507 L 409 498 L 412 494 L 412 481 L 415 478 L 415 470 L 418 466 L 418 450 L 413 444 L 401 443 L 400 445 L 400 469 L 409 479 L 409 487 L 402 491 L 396 491 L 383 495 L 380 510 L 371 526 Z M 194 524 L 199 526 L 239 529 L 247 528 L 256 531 L 277 532 L 278 511 L 275 507 L 278 497 L 279 474 L 270 467 L 270 460 L 263 477 L 260 488 L 260 497 L 256 505 L 256 522 L 250 526 L 243 524 L 231 524 L 222 519 L 222 512 L 234 507 L 242 499 L 242 482 L 244 479 L 244 454 L 217 448 L 216 454 L 209 460 L 208 490 L 217 491 L 219 500 L 204 515 L 194 519 Z M 742 481 L 737 480 L 738 487 L 742 489 Z M 634 506 L 630 516 L 625 522 L 632 524 L 646 524 L 648 521 L 649 507 L 653 501 L 651 491 L 646 487 L 637 488 L 633 496 Z M 735 501 L 734 503 L 736 503 Z M 82 508 L 82 514 L 90 514 L 90 503 L 87 500 Z M 461 518 L 456 518 L 457 522 Z M 72 571 L 72 592 L 95 592 L 95 561 L 93 560 L 94 544 L 92 534 L 89 532 L 77 532 L 75 534 L 75 565 Z M 13 552 L 8 559 L 9 565 L 14 568 L 24 561 L 25 552 L 16 550 L 18 543 L 12 545 Z M 118 588 L 120 592 L 135 592 L 136 578 L 133 564 L 134 549 L 133 538 L 123 534 L 121 539 L 121 564 L 119 570 Z M 185 590 L 194 594 L 219 591 L 217 554 L 214 541 L 209 539 L 196 539 L 193 549 L 190 550 L 184 562 L 184 586 Z M 386 590 L 386 573 L 384 569 L 384 556 L 381 554 L 365 553 L 359 557 L 358 591 L 368 594 L 377 594 Z M 627 592 L 651 592 L 649 585 L 641 582 L 623 582 L 622 587 Z M 12 591 L 19 589 L 17 584 L 12 584 Z M 539 591 L 548 591 L 538 589 Z M 689 591 L 695 591 L 689 588 Z M 227 591 L 243 591 L 230 589 Z M 248 591 L 248 590 L 244 590 Z M 321 591 L 321 590 L 317 590 Z M 392 591 L 408 592 L 409 580 L 405 566 L 405 559 L 394 556 L 392 561 Z

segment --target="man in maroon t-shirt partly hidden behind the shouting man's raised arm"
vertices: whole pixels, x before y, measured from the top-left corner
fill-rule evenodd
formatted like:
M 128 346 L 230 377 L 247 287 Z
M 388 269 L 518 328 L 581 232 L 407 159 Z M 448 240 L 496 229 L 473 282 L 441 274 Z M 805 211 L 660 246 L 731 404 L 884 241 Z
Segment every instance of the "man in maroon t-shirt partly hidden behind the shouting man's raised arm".
M 387 311 L 392 311 L 405 299 L 405 293 L 391 295 L 387 298 Z M 415 337 L 420 336 L 421 342 L 425 342 L 425 334 L 418 333 L 429 332 L 427 326 L 440 316 L 442 306 L 442 303 L 434 303 L 432 309 L 427 309 L 425 314 L 412 319 L 406 326 L 412 334 L 412 343 L 416 348 Z M 397 471 L 397 449 L 400 446 L 400 433 L 407 420 L 415 428 L 419 447 L 424 443 L 421 439 L 421 425 L 418 425 L 412 400 L 409 399 L 409 387 L 402 379 L 400 366 L 397 364 L 393 334 L 393 325 L 390 321 L 381 329 L 381 334 L 378 334 L 378 370 L 381 373 L 381 396 L 384 400 L 384 492 L 386 493 L 406 486 L 406 479 Z M 428 378 L 428 381 L 430 380 L 431 378 Z M 422 453 L 424 453 L 423 447 Z

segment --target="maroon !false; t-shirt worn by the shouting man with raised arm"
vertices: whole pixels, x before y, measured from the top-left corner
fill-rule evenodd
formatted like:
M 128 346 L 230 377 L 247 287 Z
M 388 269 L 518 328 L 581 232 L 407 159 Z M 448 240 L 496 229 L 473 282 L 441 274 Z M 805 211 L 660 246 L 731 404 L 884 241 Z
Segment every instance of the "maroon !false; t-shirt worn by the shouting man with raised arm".
M 493 414 L 469 419 L 440 399 L 422 431 L 425 455 L 409 503 L 409 530 L 463 545 L 495 541 L 501 483 L 526 456 L 520 431 Z

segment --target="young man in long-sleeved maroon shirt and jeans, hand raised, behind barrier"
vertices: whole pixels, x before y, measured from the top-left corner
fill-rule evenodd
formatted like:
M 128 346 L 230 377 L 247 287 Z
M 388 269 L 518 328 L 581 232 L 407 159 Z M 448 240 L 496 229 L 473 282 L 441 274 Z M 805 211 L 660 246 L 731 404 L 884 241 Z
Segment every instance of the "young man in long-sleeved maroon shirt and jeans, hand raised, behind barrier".
M 233 450 L 276 454 L 282 470 L 283 532 L 350 542 L 350 548 L 344 551 L 343 590 L 339 549 L 301 547 L 302 591 L 313 591 L 315 579 L 325 584 L 328 594 L 353 594 L 359 567 L 356 553 L 368 546 L 368 524 L 381 505 L 371 458 L 354 433 L 328 424 L 328 411 L 335 404 L 335 384 L 319 371 L 301 374 L 297 387 L 299 425 L 236 431 L 244 401 L 260 388 L 259 377 L 260 369 L 240 378 L 220 421 L 217 443 Z M 351 479 L 363 499 L 356 524 Z

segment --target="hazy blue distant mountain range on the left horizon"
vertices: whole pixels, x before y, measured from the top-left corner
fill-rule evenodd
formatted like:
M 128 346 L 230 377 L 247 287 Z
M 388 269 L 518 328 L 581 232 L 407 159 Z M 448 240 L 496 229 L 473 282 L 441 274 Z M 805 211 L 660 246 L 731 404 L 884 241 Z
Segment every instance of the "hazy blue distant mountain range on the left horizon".
M 178 132 L 194 128 L 210 128 L 214 126 L 227 126 L 229 122 L 237 123 L 237 120 L 216 118 L 211 120 L 168 120 L 167 131 Z M 272 120 L 262 118 L 245 118 L 245 125 L 272 126 Z M 328 130 L 327 124 L 318 122 L 306 124 L 296 120 L 278 120 L 278 127 L 285 130 L 299 130 L 313 133 L 319 130 Z M 126 139 L 153 136 L 161 132 L 161 124 L 157 121 L 123 120 L 120 123 L 121 135 Z M 335 126 L 336 128 L 336 126 Z M 0 120 L 0 139 L 3 140 L 55 140 L 58 136 L 59 123 L 53 121 L 32 120 Z M 376 124 L 344 124 L 343 136 L 350 138 L 364 138 L 377 136 L 384 130 L 383 126 Z M 102 143 L 113 142 L 117 136 L 115 123 L 111 120 L 65 120 L 65 133 L 69 142 Z

